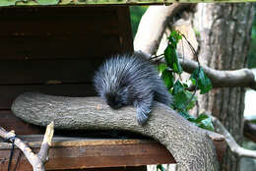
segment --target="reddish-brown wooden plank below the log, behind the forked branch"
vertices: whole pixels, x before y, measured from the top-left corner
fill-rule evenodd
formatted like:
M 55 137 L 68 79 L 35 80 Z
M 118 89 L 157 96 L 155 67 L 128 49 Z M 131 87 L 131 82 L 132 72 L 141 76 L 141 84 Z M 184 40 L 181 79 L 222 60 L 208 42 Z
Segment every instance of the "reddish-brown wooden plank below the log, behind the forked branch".
M 80 142 L 87 140 L 81 140 Z M 102 143 L 96 143 L 101 141 Z M 50 160 L 46 170 L 78 169 L 98 167 L 141 166 L 148 164 L 175 162 L 167 149 L 158 142 L 141 140 L 88 140 L 87 145 L 61 146 L 53 143 L 49 152 Z M 106 142 L 105 144 L 103 142 Z M 37 147 L 33 147 L 38 151 Z M 18 149 L 15 149 L 13 164 L 17 160 Z M 5 171 L 8 165 L 10 149 L 0 149 L 0 171 Z M 5 158 L 5 159 L 4 159 Z M 17 171 L 32 170 L 25 156 L 22 156 Z

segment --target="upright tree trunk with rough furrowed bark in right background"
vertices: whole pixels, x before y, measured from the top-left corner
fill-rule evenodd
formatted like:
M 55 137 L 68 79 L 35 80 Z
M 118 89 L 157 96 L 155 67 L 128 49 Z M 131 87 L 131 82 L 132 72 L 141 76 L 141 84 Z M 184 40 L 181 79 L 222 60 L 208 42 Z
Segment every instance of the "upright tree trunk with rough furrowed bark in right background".
M 251 3 L 198 4 L 194 27 L 199 35 L 201 64 L 218 70 L 247 66 L 254 9 Z M 243 141 L 243 87 L 226 87 L 198 95 L 197 111 L 210 111 L 218 117 L 236 142 Z M 227 149 L 222 170 L 238 171 L 239 157 Z

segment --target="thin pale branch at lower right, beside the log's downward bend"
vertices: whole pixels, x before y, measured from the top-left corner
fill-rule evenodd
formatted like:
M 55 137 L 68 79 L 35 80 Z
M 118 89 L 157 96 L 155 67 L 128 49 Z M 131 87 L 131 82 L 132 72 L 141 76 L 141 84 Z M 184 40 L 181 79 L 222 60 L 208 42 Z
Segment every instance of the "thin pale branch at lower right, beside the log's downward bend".
M 250 149 L 245 149 L 241 147 L 239 144 L 237 144 L 232 136 L 228 133 L 228 131 L 224 128 L 223 124 L 217 119 L 216 117 L 209 115 L 215 127 L 217 128 L 217 131 L 224 136 L 225 142 L 227 142 L 230 150 L 237 154 L 240 157 L 252 157 L 256 158 L 256 150 L 250 150 Z

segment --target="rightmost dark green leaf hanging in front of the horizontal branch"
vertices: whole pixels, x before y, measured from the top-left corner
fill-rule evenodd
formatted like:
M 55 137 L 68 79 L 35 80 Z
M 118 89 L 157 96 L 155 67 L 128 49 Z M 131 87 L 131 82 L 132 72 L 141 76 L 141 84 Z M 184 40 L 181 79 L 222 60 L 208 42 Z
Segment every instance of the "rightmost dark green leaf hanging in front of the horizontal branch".
M 209 90 L 213 88 L 210 79 L 206 76 L 204 70 L 201 67 L 199 69 L 196 69 L 190 76 L 190 80 L 193 85 L 196 85 L 197 78 L 198 88 L 200 89 L 201 94 L 207 93 Z

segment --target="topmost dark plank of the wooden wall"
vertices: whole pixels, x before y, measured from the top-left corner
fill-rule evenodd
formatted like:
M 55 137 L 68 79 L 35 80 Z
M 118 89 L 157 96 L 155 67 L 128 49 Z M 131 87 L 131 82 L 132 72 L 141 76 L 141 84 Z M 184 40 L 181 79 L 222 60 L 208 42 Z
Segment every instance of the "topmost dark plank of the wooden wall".
M 1 9 L 0 35 L 85 35 L 91 31 L 116 34 L 118 8 Z

